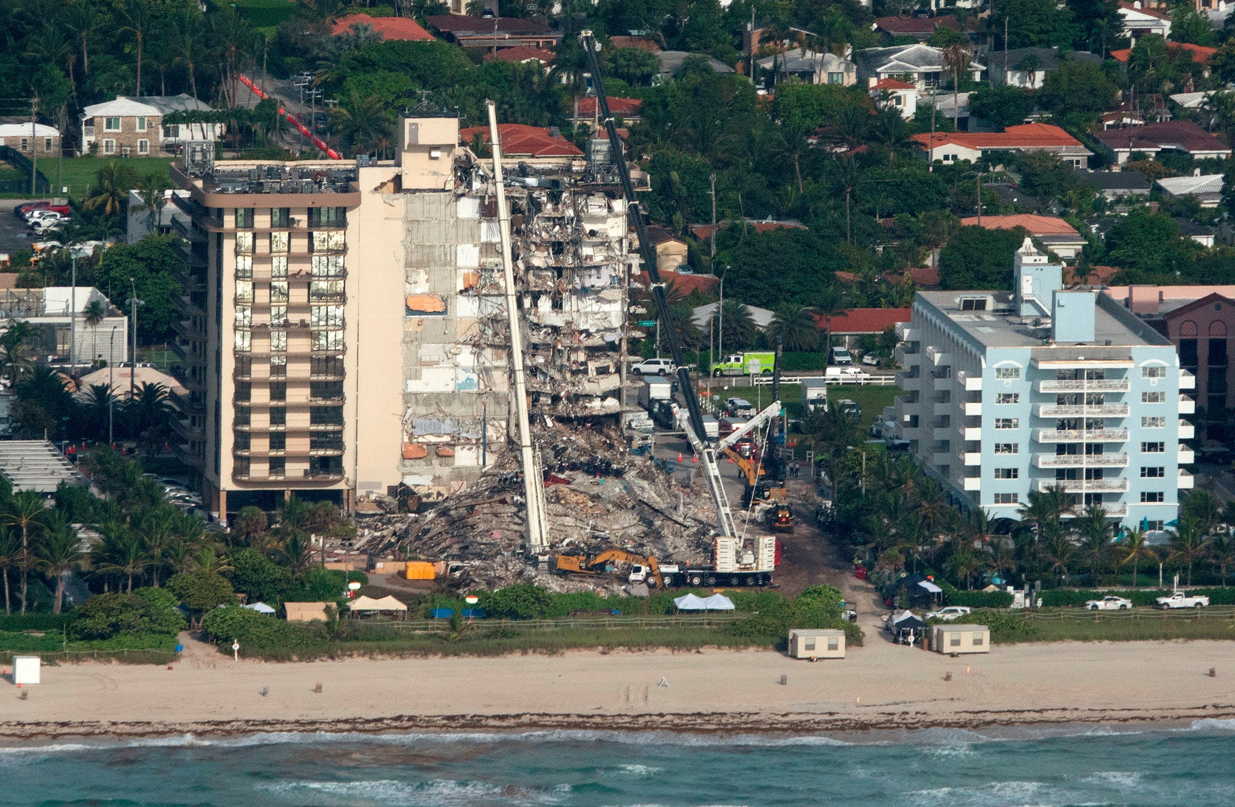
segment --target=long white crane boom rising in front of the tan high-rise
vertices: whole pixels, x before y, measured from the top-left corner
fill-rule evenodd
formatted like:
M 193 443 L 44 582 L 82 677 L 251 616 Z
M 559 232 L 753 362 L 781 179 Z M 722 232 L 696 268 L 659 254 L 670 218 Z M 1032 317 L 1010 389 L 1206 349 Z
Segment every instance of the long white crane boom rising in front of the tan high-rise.
M 527 385 L 524 378 L 524 334 L 519 326 L 515 270 L 510 254 L 510 209 L 501 179 L 501 134 L 498 132 L 498 109 L 485 101 L 489 109 L 489 143 L 493 151 L 493 181 L 498 196 L 498 223 L 501 239 L 501 269 L 506 286 L 506 322 L 510 326 L 510 364 L 515 375 L 515 411 L 519 420 L 519 452 L 524 468 L 524 497 L 527 500 L 527 547 L 534 554 L 548 547 L 545 522 L 543 487 L 536 449 L 532 445 L 532 428 L 527 416 Z M 621 154 L 616 155 L 622 159 Z

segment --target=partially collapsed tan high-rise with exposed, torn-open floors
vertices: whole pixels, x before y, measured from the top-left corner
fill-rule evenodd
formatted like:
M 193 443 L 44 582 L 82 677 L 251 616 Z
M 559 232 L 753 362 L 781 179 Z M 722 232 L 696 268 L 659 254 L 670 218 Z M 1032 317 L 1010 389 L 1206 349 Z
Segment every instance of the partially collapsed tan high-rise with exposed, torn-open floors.
M 625 201 L 606 151 L 543 137 L 563 153 L 511 158 L 508 179 L 530 391 L 547 415 L 613 417 L 637 262 Z M 393 162 L 190 148 L 173 167 L 191 221 L 182 452 L 214 513 L 399 485 L 441 497 L 494 460 L 509 331 L 487 167 L 433 114 L 400 120 Z

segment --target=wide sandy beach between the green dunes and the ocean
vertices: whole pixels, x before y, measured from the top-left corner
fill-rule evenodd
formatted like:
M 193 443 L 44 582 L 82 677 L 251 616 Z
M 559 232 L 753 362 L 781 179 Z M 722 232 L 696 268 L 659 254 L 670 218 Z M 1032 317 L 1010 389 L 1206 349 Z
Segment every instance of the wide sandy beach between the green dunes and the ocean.
M 269 664 L 194 643 L 173 670 L 44 666 L 26 700 L 2 682 L 0 737 L 1179 721 L 1235 717 L 1233 676 L 1226 642 L 1020 644 L 952 659 L 868 633 L 848 658 L 814 664 L 730 650 Z

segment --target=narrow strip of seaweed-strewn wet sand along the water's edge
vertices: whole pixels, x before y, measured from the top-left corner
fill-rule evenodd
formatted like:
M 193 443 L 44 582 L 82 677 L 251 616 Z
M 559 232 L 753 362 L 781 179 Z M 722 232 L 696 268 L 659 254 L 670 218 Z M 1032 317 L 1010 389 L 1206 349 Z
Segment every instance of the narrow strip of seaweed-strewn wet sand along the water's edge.
M 61 739 L 159 739 L 184 737 L 193 740 L 219 740 L 246 737 L 296 734 L 398 737 L 417 734 L 509 734 L 520 737 L 538 732 L 572 733 L 672 733 L 697 734 L 718 739 L 736 737 L 832 737 L 874 732 L 918 732 L 932 728 L 977 730 L 987 728 L 1034 729 L 1051 727 L 1120 726 L 1132 729 L 1171 729 L 1188 727 L 1198 719 L 1235 721 L 1235 703 L 1203 705 L 1186 710 L 1078 710 L 1041 708 L 1016 711 L 968 711 L 950 716 L 925 712 L 876 712 L 868 718 L 835 712 L 748 713 L 661 713 L 630 714 L 399 714 L 387 718 L 340 718 L 327 721 L 195 721 L 159 723 L 148 721 L 61 721 L 0 723 L 4 740 Z M 1235 726 L 1233 726 L 1235 728 Z M 804 732 L 804 729 L 806 729 Z M 994 739 L 994 738 L 988 738 Z M 4 748 L 37 748 L 4 745 Z

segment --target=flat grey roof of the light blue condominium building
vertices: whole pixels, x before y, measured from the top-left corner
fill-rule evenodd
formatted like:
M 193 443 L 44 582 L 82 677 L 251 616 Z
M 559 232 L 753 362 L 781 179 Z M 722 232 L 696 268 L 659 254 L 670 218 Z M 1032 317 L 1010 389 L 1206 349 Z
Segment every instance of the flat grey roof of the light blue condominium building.
M 1034 352 L 1034 358 L 1037 359 L 1061 359 L 1078 349 L 1092 359 L 1126 358 L 1126 348 L 1130 347 L 1170 344 L 1165 337 L 1144 326 L 1103 294 L 1098 295 L 1094 306 L 1094 341 L 1081 348 L 1074 343 L 1052 344 L 1050 317 L 1021 317 L 1014 313 L 1010 291 L 919 291 L 918 296 L 979 344 L 987 348 L 1040 348 L 1041 352 Z M 994 300 L 993 310 L 961 311 L 962 299 L 982 296 Z M 1035 327 L 1035 321 L 1041 325 Z

